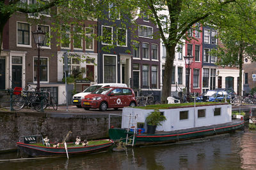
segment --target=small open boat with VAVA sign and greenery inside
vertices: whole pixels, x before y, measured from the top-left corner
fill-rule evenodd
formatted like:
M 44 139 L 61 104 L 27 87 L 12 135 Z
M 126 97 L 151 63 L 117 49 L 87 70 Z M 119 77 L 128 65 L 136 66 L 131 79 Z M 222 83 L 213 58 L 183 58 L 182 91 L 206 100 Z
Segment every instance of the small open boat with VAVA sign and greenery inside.
M 114 143 L 111 139 L 102 139 L 93 142 L 94 144 L 90 143 L 89 141 L 87 146 L 67 143 L 68 155 L 106 151 Z M 52 144 L 50 145 L 50 147 L 46 147 L 43 145 L 43 143 L 26 144 L 22 142 L 17 142 L 17 146 L 19 147 L 20 152 L 26 153 L 26 155 L 28 155 L 29 157 L 58 157 L 65 156 L 67 154 L 64 145 L 60 145 L 59 148 L 54 148 Z

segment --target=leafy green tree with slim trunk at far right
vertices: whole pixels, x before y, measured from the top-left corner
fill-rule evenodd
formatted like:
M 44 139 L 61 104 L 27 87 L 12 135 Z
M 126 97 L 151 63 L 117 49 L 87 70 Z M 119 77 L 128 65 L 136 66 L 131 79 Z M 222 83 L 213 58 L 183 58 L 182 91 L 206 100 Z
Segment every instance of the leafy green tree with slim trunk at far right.
M 256 15 L 255 1 L 237 2 L 238 6 L 228 4 L 221 17 L 220 40 L 216 56 L 220 66 L 239 67 L 239 89 L 242 92 L 242 71 L 244 58 L 256 60 Z

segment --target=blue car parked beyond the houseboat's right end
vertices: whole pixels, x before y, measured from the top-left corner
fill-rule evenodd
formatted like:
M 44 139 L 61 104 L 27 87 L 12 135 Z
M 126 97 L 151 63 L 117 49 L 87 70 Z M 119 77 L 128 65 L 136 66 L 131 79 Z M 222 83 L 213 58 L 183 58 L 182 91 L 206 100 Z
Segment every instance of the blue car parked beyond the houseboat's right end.
M 197 97 L 196 101 L 223 101 L 225 98 L 230 99 L 230 95 L 228 95 L 225 90 L 208 90 L 203 94 L 203 96 Z

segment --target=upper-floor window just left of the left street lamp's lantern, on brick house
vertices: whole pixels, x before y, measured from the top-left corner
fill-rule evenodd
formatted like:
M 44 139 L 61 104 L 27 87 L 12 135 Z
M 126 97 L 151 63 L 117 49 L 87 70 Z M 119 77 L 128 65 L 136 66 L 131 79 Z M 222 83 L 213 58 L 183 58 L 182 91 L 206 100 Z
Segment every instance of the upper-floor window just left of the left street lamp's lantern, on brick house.
M 18 22 L 18 45 L 30 45 L 29 24 Z

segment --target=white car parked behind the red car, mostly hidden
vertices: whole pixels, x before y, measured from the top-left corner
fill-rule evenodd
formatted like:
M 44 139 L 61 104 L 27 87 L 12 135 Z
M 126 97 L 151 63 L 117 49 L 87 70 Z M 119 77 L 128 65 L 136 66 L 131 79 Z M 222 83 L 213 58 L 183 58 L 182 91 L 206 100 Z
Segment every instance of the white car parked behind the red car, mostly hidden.
M 81 100 L 84 99 L 84 96 L 94 92 L 101 87 L 127 87 L 126 84 L 123 83 L 100 83 L 96 85 L 91 85 L 87 89 L 83 90 L 83 92 L 75 94 L 72 97 L 72 105 L 77 106 L 77 108 L 81 108 Z

